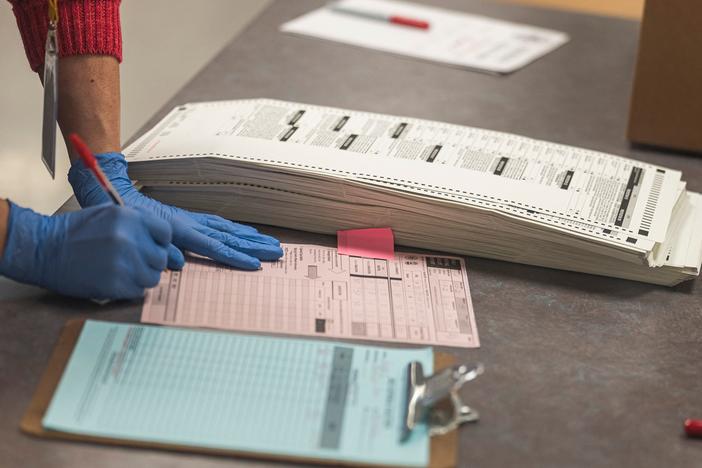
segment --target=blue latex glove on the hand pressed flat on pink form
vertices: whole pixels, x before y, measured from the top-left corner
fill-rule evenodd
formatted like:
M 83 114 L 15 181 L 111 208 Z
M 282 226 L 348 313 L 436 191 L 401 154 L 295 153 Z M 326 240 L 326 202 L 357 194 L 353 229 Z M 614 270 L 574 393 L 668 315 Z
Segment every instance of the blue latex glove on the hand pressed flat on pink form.
M 245 270 L 257 270 L 261 267 L 259 260 L 277 260 L 283 255 L 277 239 L 260 234 L 251 226 L 164 205 L 142 195 L 129 179 L 127 160 L 120 153 L 103 153 L 95 157 L 127 206 L 150 211 L 171 225 L 174 245 L 168 249 L 168 268 L 178 270 L 185 264 L 180 249 Z M 109 200 L 82 161 L 73 163 L 68 181 L 83 207 Z

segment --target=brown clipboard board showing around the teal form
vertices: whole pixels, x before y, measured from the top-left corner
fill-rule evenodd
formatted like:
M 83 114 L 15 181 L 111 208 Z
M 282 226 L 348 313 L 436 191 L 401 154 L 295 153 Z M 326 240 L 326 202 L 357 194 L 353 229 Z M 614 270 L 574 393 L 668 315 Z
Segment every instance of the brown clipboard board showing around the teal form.
M 146 442 L 137 440 L 126 440 L 126 439 L 114 439 L 109 437 L 97 437 L 82 434 L 72 434 L 68 432 L 60 431 L 48 431 L 42 427 L 42 420 L 44 419 L 44 414 L 49 407 L 49 403 L 54 395 L 54 391 L 58 386 L 61 375 L 68 364 L 68 359 L 73 352 L 73 348 L 78 342 L 78 337 L 83 330 L 83 324 L 85 320 L 69 320 L 66 325 L 64 325 L 61 330 L 61 335 L 59 340 L 54 347 L 54 351 L 49 359 L 49 363 L 44 371 L 44 374 L 39 381 L 39 386 L 32 396 L 32 400 L 29 403 L 27 411 L 22 417 L 20 422 L 20 428 L 26 434 L 30 434 L 37 437 L 49 438 L 49 439 L 64 439 L 79 442 L 95 442 L 107 445 L 123 445 L 130 447 L 141 447 L 141 448 L 156 448 L 162 450 L 173 450 L 180 452 L 189 453 L 201 453 L 207 455 L 220 455 L 220 456 L 237 456 L 237 457 L 248 457 L 248 458 L 258 458 L 267 460 L 279 460 L 279 461 L 295 461 L 295 462 L 308 462 L 321 465 L 348 465 L 348 466 L 359 466 L 358 463 L 334 461 L 334 460 L 320 460 L 320 459 L 310 459 L 310 458 L 299 458 L 292 456 L 277 456 L 268 455 L 254 452 L 245 452 L 237 450 L 226 450 L 226 449 L 212 449 L 205 447 L 194 447 L 187 445 L 177 445 L 177 444 L 163 444 L 157 442 Z M 445 353 L 435 353 L 434 355 L 434 367 L 435 369 L 442 369 L 453 365 L 454 358 Z M 450 432 L 448 434 L 432 437 L 430 446 L 430 468 L 453 468 L 456 466 L 457 457 L 457 434 L 456 431 Z M 365 465 L 371 466 L 371 465 Z

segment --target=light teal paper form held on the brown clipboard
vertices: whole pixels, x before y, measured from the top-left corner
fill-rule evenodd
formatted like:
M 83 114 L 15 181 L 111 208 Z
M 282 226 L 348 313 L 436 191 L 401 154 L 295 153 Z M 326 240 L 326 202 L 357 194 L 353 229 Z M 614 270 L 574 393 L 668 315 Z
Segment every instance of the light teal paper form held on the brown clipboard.
M 427 466 L 400 442 L 407 364 L 430 348 L 86 321 L 45 429 L 310 460 Z

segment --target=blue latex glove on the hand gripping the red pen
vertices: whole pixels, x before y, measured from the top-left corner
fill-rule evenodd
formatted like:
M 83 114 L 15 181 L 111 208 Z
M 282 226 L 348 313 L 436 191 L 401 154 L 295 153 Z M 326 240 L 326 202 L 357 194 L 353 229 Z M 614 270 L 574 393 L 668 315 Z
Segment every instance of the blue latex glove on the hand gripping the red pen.
M 132 299 L 156 286 L 171 227 L 112 203 L 43 216 L 10 203 L 0 274 L 73 297 Z

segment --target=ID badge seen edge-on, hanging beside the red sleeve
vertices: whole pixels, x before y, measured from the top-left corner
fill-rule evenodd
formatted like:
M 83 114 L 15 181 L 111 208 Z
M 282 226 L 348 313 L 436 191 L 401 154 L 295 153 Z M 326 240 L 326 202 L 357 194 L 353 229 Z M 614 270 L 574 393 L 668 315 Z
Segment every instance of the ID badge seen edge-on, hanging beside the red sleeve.
M 58 0 L 49 0 L 49 29 L 44 53 L 44 115 L 41 129 L 41 160 L 56 177 L 56 115 L 58 111 Z

